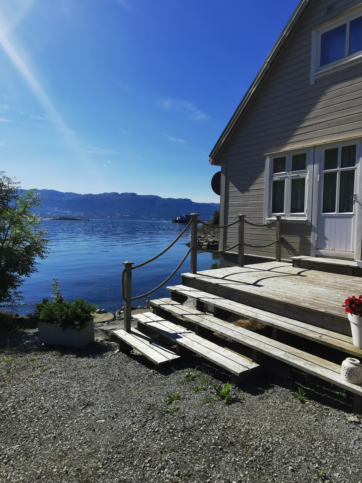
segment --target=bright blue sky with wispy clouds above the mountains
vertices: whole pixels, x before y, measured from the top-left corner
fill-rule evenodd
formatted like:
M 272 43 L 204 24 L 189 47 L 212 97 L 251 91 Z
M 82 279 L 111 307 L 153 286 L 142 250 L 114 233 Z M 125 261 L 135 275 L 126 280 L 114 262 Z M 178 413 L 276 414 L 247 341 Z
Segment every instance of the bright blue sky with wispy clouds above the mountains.
M 297 0 L 0 0 L 0 170 L 218 202 L 209 152 Z

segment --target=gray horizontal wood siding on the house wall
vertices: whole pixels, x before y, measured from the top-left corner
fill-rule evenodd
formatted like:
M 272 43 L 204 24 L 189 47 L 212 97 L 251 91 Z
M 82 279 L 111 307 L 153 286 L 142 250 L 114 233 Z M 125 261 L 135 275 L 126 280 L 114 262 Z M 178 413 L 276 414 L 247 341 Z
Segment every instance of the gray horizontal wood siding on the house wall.
M 336 1 L 334 13 L 327 16 L 330 3 L 315 0 L 306 7 L 215 159 L 217 164 L 226 162 L 224 223 L 234 221 L 239 213 L 263 223 L 265 153 L 362 137 L 361 65 L 309 85 L 312 29 L 361 1 Z M 281 234 L 283 259 L 310 255 L 311 227 L 305 222 L 283 221 Z M 273 240 L 275 225 L 245 227 L 245 243 Z M 237 226 L 224 230 L 223 241 L 224 248 L 237 242 Z M 275 246 L 246 247 L 245 253 L 273 258 Z

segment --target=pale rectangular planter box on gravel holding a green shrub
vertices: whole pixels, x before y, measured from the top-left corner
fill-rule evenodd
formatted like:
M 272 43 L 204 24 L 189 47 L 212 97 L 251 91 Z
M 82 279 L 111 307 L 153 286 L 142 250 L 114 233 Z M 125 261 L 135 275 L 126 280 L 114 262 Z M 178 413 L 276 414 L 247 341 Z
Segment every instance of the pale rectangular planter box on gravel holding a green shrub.
M 38 322 L 39 341 L 51 345 L 70 345 L 71 347 L 83 347 L 94 342 L 94 324 L 90 319 L 88 325 L 80 330 L 65 329 L 56 324 L 44 324 Z

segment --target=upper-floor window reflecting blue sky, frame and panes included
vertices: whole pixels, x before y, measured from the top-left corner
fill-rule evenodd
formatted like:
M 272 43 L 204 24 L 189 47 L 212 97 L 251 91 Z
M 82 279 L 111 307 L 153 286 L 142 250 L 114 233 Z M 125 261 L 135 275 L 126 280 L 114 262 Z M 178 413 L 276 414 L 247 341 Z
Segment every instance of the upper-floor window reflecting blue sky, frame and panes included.
M 315 79 L 362 62 L 362 8 L 313 29 L 310 84 Z

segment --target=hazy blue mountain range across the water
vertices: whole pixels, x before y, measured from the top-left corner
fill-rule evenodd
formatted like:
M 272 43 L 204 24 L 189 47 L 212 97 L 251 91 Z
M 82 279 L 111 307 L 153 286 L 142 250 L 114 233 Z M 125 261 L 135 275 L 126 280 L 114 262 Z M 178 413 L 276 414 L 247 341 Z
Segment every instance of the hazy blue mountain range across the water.
M 37 189 L 42 198 L 41 216 L 130 216 L 133 218 L 172 219 L 181 214 L 199 213 L 211 219 L 219 203 L 195 203 L 187 198 L 161 198 L 136 193 L 80 195 L 52 189 Z

